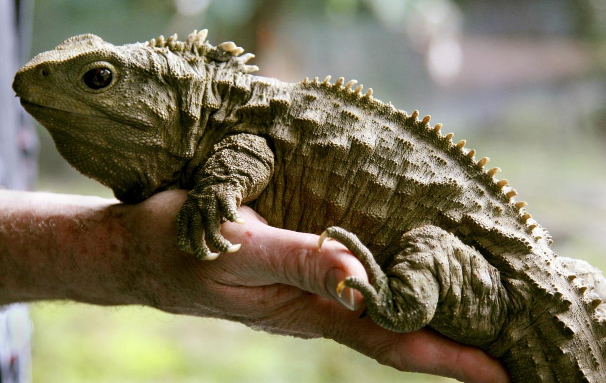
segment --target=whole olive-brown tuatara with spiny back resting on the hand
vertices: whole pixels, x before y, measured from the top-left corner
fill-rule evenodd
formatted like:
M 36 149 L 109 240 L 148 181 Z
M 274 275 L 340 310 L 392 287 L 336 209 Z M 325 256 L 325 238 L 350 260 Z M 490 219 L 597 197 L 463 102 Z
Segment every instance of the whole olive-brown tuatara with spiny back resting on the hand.
M 251 54 L 205 37 L 75 36 L 13 88 L 65 159 L 122 201 L 189 189 L 178 241 L 201 259 L 218 255 L 207 243 L 238 250 L 219 224 L 249 203 L 273 226 L 328 228 L 366 267 L 368 283 L 344 284 L 381 326 L 433 327 L 502 358 L 514 381 L 606 381 L 601 272 L 558 258 L 487 158 L 355 80 L 253 76 Z

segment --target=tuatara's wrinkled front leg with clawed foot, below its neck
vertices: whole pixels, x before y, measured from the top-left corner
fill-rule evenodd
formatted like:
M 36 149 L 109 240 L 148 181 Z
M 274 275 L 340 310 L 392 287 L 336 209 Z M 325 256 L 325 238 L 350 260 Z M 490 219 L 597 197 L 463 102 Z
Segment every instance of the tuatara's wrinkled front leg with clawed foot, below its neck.
M 231 244 L 221 235 L 221 221 L 242 223 L 238 207 L 265 189 L 273 163 L 274 154 L 262 137 L 241 133 L 216 144 L 179 211 L 179 247 L 202 260 L 219 255 L 211 252 L 207 241 L 219 252 L 237 251 L 240 245 Z

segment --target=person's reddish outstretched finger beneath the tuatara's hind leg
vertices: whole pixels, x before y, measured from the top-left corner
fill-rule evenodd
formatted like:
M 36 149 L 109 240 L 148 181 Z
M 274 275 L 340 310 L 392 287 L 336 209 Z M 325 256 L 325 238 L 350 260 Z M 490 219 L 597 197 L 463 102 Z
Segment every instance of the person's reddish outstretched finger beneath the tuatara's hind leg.
M 401 371 L 447 376 L 470 383 L 510 382 L 502 363 L 480 349 L 459 344 L 430 329 L 391 332 L 368 316 L 360 319 L 359 314 L 318 296 L 301 296 L 279 312 L 273 312 L 270 325 L 267 322 L 264 325 L 270 332 L 275 332 L 273 327 L 279 327 L 282 331 L 292 329 L 333 339 Z

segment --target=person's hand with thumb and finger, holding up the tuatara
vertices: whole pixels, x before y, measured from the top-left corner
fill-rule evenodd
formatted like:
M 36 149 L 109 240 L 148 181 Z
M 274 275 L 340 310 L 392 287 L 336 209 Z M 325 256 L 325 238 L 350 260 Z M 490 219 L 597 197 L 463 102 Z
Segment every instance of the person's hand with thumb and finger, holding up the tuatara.
M 479 349 L 432 330 L 394 333 L 370 318 L 359 319 L 358 292 L 345 290 L 342 304 L 337 303 L 339 281 L 348 275 L 367 278 L 362 264 L 337 241 L 325 242 L 319 252 L 317 235 L 272 228 L 242 206 L 244 225 L 222 225 L 225 238 L 242 244 L 238 252 L 213 261 L 182 253 L 175 243 L 175 217 L 186 196 L 162 192 L 138 205 L 115 205 L 108 216 L 135 239 L 125 250 L 139 260 L 138 280 L 128 285 L 139 303 L 239 321 L 270 333 L 334 339 L 399 370 L 465 382 L 509 381 L 502 364 Z

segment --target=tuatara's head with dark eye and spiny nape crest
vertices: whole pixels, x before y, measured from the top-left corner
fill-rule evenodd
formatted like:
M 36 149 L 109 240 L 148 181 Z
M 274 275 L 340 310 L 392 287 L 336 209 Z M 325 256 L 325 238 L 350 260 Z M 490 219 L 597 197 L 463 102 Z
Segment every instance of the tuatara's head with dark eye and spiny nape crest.
M 25 64 L 13 89 L 72 166 L 122 201 L 143 200 L 175 185 L 195 151 L 208 68 L 249 67 L 241 48 L 205 36 L 115 46 L 81 34 Z

